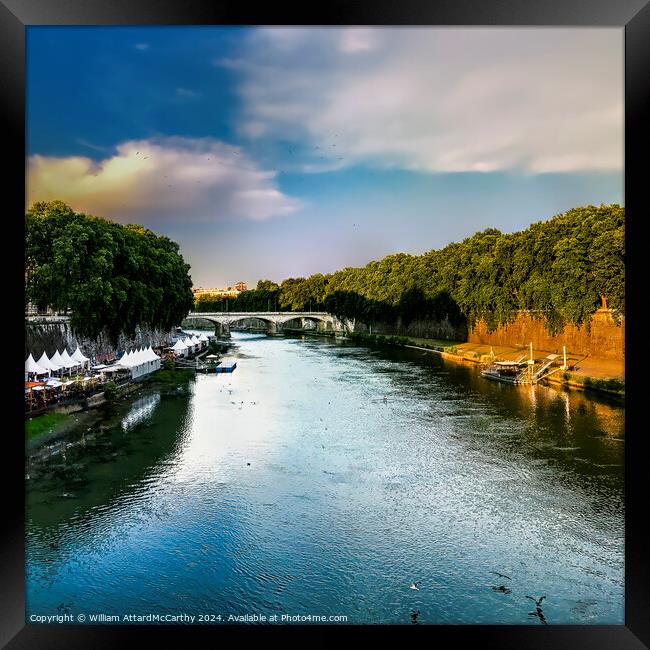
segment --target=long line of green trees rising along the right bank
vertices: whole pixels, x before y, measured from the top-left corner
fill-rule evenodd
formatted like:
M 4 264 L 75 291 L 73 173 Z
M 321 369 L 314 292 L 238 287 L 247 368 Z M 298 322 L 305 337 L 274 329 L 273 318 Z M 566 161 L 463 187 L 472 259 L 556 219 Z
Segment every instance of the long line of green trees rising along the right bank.
M 366 324 L 430 318 L 488 329 L 525 310 L 551 332 L 589 324 L 606 304 L 625 313 L 625 210 L 583 206 L 525 230 L 488 228 L 423 255 L 397 253 L 333 274 L 260 280 L 235 299 L 202 296 L 196 311 L 325 310 Z

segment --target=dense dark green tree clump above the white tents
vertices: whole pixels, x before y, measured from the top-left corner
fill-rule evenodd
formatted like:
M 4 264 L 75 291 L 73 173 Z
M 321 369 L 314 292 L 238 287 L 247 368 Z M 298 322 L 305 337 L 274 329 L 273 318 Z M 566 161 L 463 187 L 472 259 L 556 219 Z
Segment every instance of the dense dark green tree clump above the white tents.
M 137 225 L 35 203 L 25 217 L 25 300 L 71 310 L 82 336 L 113 343 L 136 327 L 171 329 L 192 309 L 189 265 L 178 244 Z

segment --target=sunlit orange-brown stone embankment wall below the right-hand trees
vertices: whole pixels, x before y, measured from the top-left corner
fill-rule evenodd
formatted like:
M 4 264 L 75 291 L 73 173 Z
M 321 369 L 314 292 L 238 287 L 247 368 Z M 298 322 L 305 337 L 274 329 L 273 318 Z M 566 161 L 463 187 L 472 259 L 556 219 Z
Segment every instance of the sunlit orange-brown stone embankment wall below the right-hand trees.
M 566 345 L 572 354 L 622 360 L 625 357 L 625 321 L 616 323 L 609 309 L 599 309 L 593 316 L 590 331 L 583 325 L 567 325 L 562 332 L 551 335 L 544 322 L 531 314 L 521 313 L 512 322 L 488 332 L 484 322 L 471 329 L 470 343 L 488 345 L 508 345 L 527 347 L 532 342 L 533 349 L 562 353 Z

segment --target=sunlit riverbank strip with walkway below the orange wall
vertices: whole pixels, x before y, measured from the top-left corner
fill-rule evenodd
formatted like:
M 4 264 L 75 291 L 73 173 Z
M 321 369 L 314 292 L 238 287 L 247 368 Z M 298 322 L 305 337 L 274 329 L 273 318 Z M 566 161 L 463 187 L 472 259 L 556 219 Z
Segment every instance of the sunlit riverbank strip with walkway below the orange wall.
M 439 339 L 421 339 L 408 336 L 383 336 L 379 334 L 350 335 L 351 341 L 370 345 L 388 345 L 438 354 L 444 359 L 456 363 L 485 365 L 491 360 L 515 361 L 522 355 L 529 355 L 528 348 L 506 345 L 486 345 L 482 343 L 442 341 Z M 543 358 L 554 350 L 533 350 L 536 358 Z M 616 397 L 625 397 L 625 364 L 615 359 L 600 357 L 579 357 L 567 354 L 569 370 L 558 370 L 545 377 L 541 383 L 572 389 L 606 393 Z

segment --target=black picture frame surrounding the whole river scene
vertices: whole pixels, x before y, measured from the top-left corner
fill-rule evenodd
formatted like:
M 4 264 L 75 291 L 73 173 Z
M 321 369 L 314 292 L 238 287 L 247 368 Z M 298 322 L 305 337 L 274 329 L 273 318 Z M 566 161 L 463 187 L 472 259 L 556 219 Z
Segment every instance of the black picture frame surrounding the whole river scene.
M 375 0 L 370 5 L 358 1 L 329 0 L 318 6 L 307 3 L 278 7 L 266 3 L 247 8 L 243 3 L 201 0 L 0 0 L 0 115 L 2 116 L 3 153 L 9 164 L 5 190 L 9 199 L 5 207 L 5 224 L 20 224 L 24 213 L 25 170 L 25 102 L 24 43 L 30 25 L 135 25 L 135 24 L 264 24 L 264 25 L 531 25 L 531 26 L 618 26 L 625 30 L 625 207 L 628 295 L 641 296 L 642 238 L 646 215 L 641 211 L 640 190 L 645 171 L 642 156 L 648 139 L 643 136 L 645 110 L 650 103 L 648 70 L 650 69 L 650 6 L 647 0 L 402 0 L 399 3 Z M 13 178 L 15 176 L 15 178 Z M 21 189 L 22 188 L 22 189 Z M 20 247 L 13 237 L 20 237 L 21 226 L 5 239 L 5 250 L 17 256 L 16 275 L 23 273 Z M 9 246 L 7 246 L 9 244 Z M 15 250 L 14 250 L 15 249 Z M 13 283 L 13 277 L 11 282 Z M 16 278 L 17 287 L 23 278 Z M 637 291 L 637 287 L 639 290 Z M 5 313 L 20 314 L 20 291 L 7 298 Z M 644 465 L 645 431 L 641 419 L 641 378 L 643 351 L 640 309 L 643 301 L 628 301 L 626 313 L 626 524 L 625 524 L 625 625 L 620 626 L 407 626 L 399 634 L 409 635 L 411 642 L 432 640 L 434 643 L 467 643 L 470 647 L 505 648 L 644 648 L 650 645 L 650 571 L 647 544 L 642 528 L 646 521 L 647 487 Z M 10 322 L 13 322 L 10 319 Z M 638 352 L 637 352 L 638 351 Z M 9 352 L 9 351 L 8 351 Z M 8 373 L 17 378 L 6 393 L 22 402 L 19 383 L 24 359 L 18 359 Z M 14 392 L 15 391 L 15 392 Z M 19 408 L 16 412 L 20 414 Z M 64 626 L 25 625 L 24 599 L 24 484 L 23 423 L 4 430 L 3 473 L 8 479 L 3 502 L 4 531 L 0 548 L 0 644 L 19 648 L 115 648 L 133 647 L 135 643 L 160 641 L 192 643 L 197 634 L 210 636 L 212 642 L 233 632 L 249 636 L 251 628 L 170 626 Z M 23 491 L 24 496 L 24 491 Z M 265 627 L 266 640 L 279 631 L 291 635 L 313 633 L 309 627 Z M 375 628 L 376 630 L 376 628 Z M 370 631 L 357 629 L 364 637 Z M 330 633 L 349 628 L 319 628 L 326 639 Z M 379 629 L 383 635 L 383 627 Z M 418 640 L 411 635 L 416 635 Z M 356 635 L 355 635 L 356 636 Z M 408 639 L 406 639 L 408 642 Z

